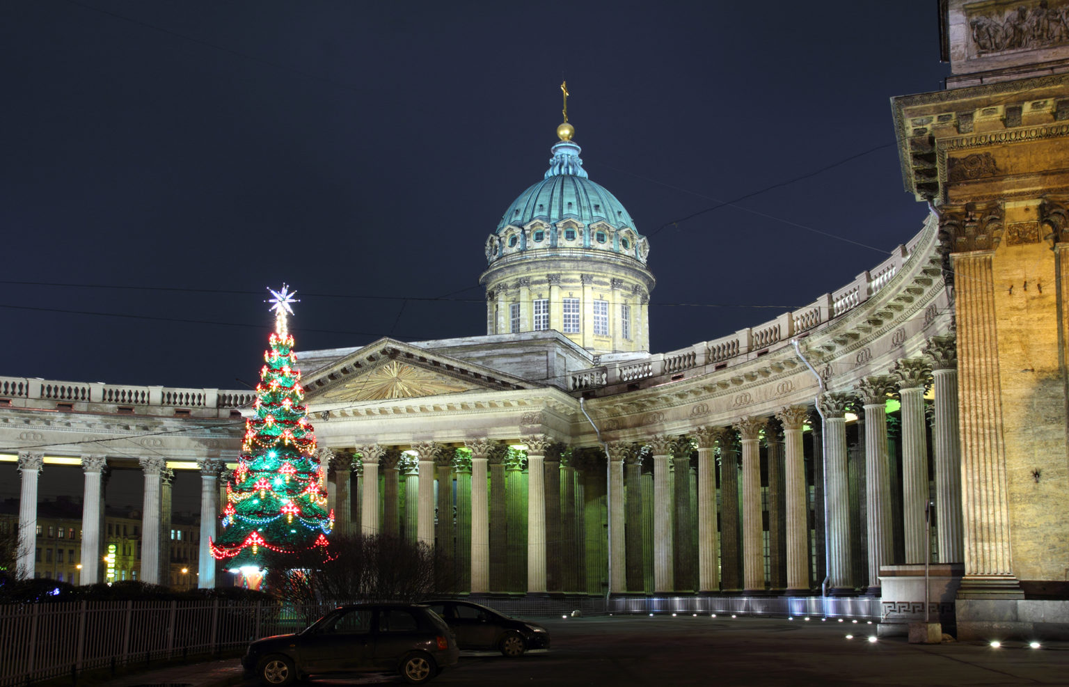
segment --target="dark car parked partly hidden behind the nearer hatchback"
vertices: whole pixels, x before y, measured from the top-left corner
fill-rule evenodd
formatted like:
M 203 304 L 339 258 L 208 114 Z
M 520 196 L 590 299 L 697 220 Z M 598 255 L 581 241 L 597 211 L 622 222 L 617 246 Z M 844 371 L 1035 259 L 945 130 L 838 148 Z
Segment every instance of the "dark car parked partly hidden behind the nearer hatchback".
M 527 651 L 549 649 L 549 633 L 538 623 L 510 618 L 471 602 L 423 603 L 446 621 L 462 650 L 496 650 L 515 658 Z

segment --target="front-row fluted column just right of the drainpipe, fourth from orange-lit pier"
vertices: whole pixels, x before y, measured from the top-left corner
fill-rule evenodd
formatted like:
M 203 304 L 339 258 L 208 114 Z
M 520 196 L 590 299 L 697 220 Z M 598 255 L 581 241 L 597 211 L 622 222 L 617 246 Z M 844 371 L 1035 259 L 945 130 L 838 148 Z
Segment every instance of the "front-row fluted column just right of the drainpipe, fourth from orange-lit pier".
M 824 413 L 824 469 L 827 494 L 826 534 L 828 589 L 834 593 L 853 591 L 850 579 L 850 482 L 847 473 L 847 406 L 850 395 L 828 391 L 820 396 Z

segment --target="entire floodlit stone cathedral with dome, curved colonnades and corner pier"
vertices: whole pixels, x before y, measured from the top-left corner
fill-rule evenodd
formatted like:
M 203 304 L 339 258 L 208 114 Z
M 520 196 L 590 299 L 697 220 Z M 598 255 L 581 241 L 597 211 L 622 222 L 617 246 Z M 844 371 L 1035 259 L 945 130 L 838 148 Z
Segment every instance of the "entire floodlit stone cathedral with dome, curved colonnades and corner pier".
M 892 99 L 923 225 L 806 307 L 680 350 L 649 352 L 651 246 L 561 124 L 487 228 L 484 335 L 298 352 L 336 530 L 443 549 L 480 598 L 1069 635 L 1069 32 L 989 30 L 1022 3 L 1069 5 L 942 3 L 946 88 Z M 80 581 L 103 579 L 102 475 L 127 469 L 140 579 L 166 582 L 170 483 L 192 470 L 214 587 L 252 400 L 0 377 L 3 446 L 47 447 L 0 456 L 20 573 L 41 569 L 38 473 L 80 469 Z M 124 437 L 143 455 L 109 455 Z

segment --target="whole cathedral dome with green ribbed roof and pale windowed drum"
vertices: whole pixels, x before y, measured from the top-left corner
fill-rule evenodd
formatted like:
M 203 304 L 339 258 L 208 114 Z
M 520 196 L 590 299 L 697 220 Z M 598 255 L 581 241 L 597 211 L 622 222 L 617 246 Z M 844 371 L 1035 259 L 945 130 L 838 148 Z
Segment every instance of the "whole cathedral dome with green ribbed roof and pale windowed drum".
M 587 177 L 574 134 L 566 112 L 548 171 L 486 237 L 486 333 L 553 329 L 594 355 L 649 350 L 650 244 Z

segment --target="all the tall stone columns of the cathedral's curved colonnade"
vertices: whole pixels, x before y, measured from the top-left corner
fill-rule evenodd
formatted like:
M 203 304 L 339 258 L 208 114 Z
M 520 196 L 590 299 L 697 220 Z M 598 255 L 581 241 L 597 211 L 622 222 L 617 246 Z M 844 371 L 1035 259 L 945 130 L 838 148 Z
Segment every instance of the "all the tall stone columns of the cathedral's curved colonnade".
M 737 418 L 730 426 L 699 425 L 678 435 L 654 432 L 617 441 L 608 446 L 607 463 L 601 449 L 570 451 L 545 433 L 516 438 L 526 446 L 526 469 L 508 457 L 505 443 L 485 437 L 465 441 L 469 460 L 456 459 L 455 446 L 444 451 L 429 441 L 413 444 L 409 458 L 397 447 L 378 444 L 348 452 L 324 449 L 320 458 L 331 468 L 337 532 L 398 534 L 403 488 L 404 531 L 441 547 L 455 561 L 462 591 L 601 593 L 607 578 L 613 593 L 807 594 L 822 583 L 832 593 L 866 587 L 876 593 L 881 566 L 923 563 L 928 556 L 925 390 L 932 382 L 938 550 L 942 562 L 958 562 L 964 553 L 952 335 L 932 338 L 924 357 L 899 360 L 886 374 L 821 394 L 816 407 L 788 405 L 774 416 Z M 901 401 L 900 485 L 888 450 L 889 394 Z M 864 424 L 855 448 L 863 458 L 853 463 L 848 411 Z M 812 430 L 808 470 L 807 424 Z M 142 457 L 139 464 L 144 477 L 141 579 L 166 581 L 160 561 L 167 543 L 161 532 L 170 518 L 169 470 L 161 457 Z M 107 459 L 88 454 L 81 465 L 81 579 L 90 581 L 100 575 Z M 224 498 L 226 469 L 219 458 L 198 466 L 199 585 L 210 588 L 216 583 L 216 565 L 208 541 Z M 18 569 L 29 577 L 42 468 L 41 453 L 19 454 Z M 812 475 L 812 500 L 807 474 Z M 896 550 L 901 551 L 898 560 Z

